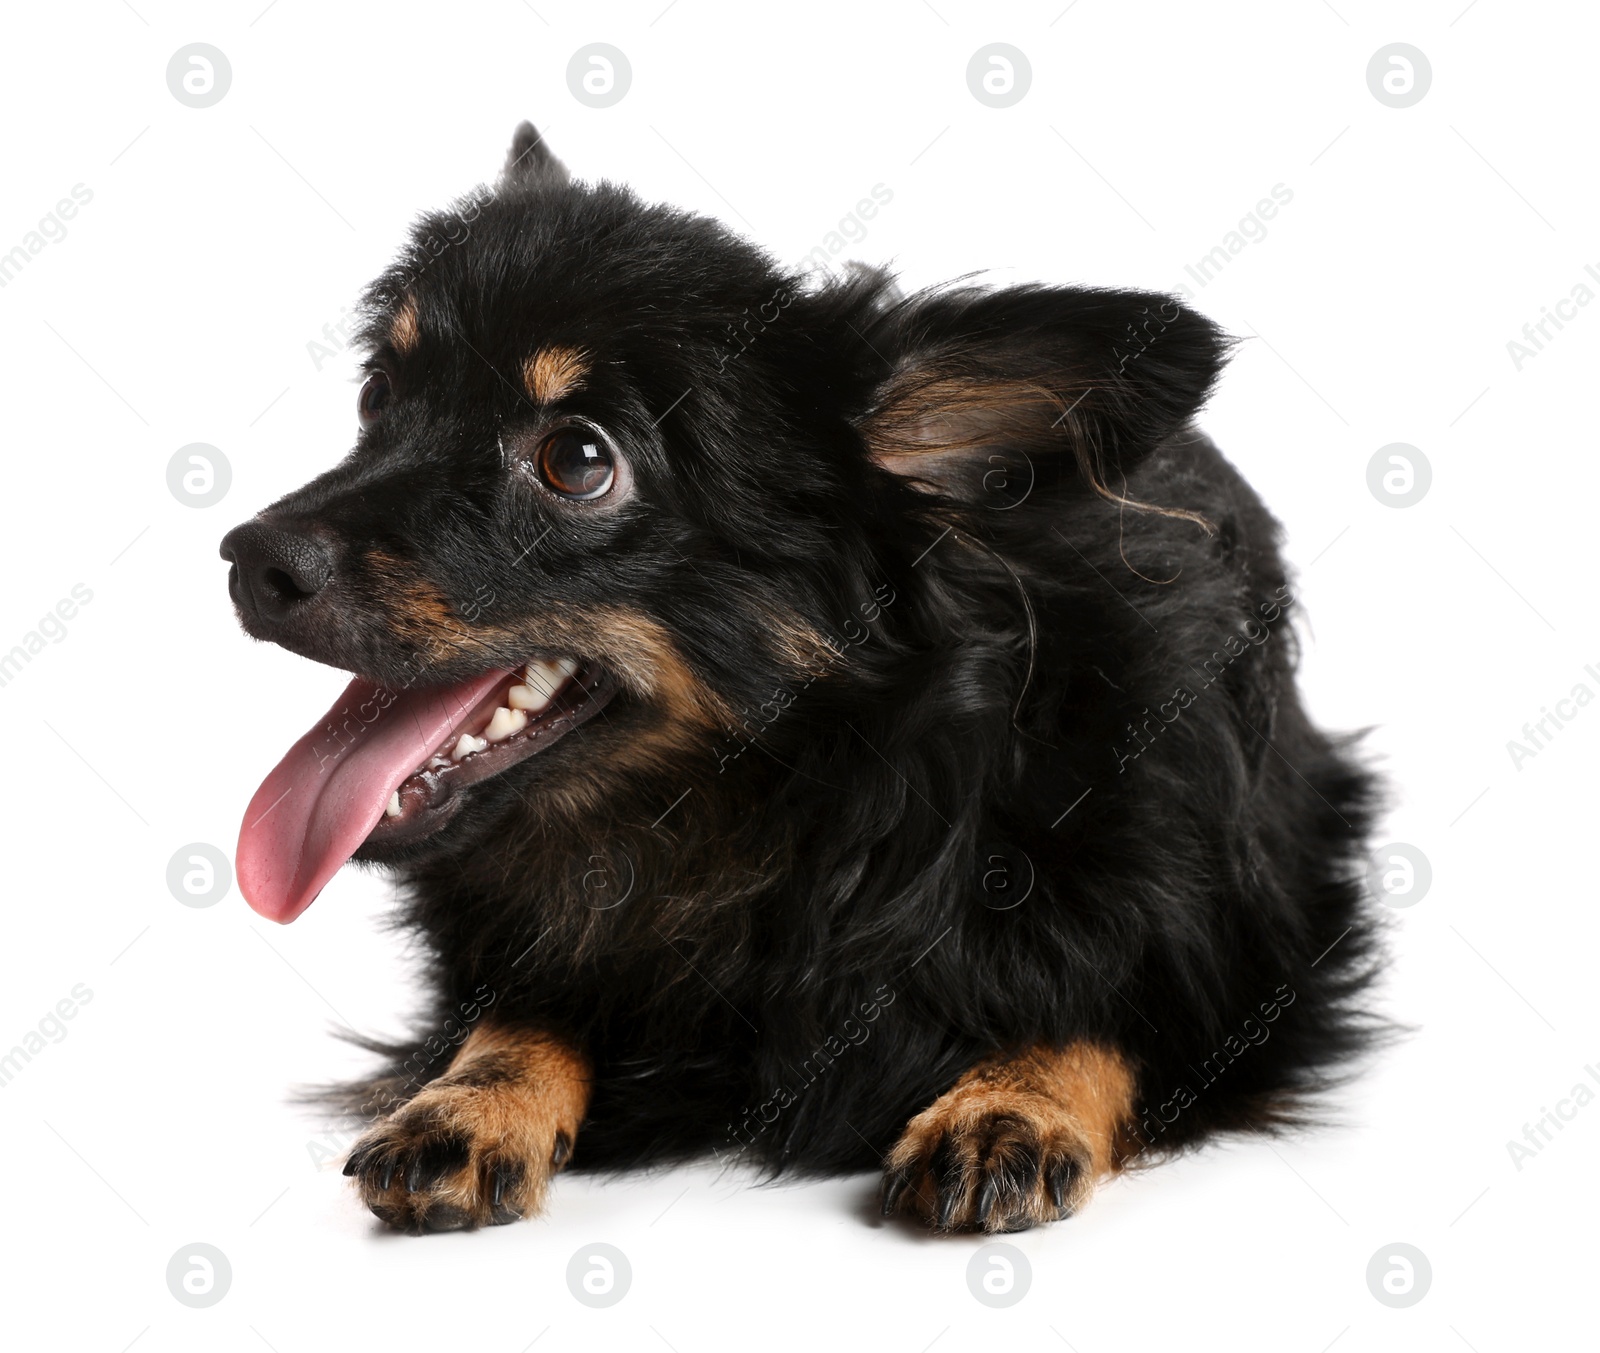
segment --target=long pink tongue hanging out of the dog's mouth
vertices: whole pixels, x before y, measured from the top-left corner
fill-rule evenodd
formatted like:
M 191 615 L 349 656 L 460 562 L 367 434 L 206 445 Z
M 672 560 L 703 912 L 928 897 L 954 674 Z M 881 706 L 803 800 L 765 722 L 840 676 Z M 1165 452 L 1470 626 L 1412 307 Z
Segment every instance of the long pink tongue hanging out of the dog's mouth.
M 357 676 L 256 790 L 238 828 L 238 888 L 269 921 L 304 912 L 400 784 L 458 731 L 507 672 L 390 691 Z

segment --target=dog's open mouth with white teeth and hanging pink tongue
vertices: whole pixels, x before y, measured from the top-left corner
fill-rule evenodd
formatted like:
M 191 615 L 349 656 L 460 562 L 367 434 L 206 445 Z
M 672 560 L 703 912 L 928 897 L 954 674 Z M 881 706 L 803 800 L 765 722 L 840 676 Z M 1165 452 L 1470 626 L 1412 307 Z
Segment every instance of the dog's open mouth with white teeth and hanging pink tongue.
M 462 790 L 544 752 L 613 694 L 610 675 L 566 656 L 453 686 L 395 691 L 357 676 L 245 809 L 245 900 L 293 921 L 365 843 L 432 835 Z

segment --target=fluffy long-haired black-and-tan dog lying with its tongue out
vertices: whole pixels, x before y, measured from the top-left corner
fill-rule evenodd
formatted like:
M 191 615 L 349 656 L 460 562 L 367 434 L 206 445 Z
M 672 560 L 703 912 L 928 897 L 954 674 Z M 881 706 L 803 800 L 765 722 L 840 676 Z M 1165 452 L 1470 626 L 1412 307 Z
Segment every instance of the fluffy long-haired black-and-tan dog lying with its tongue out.
M 432 956 L 349 1100 L 381 1219 L 717 1153 L 1016 1230 L 1366 1044 L 1371 785 L 1192 427 L 1210 321 L 806 278 L 528 125 L 365 315 L 355 449 L 222 555 L 248 633 L 355 675 L 245 897 L 387 865 Z

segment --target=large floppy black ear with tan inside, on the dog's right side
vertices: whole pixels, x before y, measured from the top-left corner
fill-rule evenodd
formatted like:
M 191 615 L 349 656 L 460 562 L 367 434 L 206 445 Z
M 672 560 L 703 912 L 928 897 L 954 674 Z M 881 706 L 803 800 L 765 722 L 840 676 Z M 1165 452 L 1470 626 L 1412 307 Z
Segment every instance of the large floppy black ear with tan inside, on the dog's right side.
M 1046 286 L 923 293 L 866 337 L 891 368 L 859 419 L 867 451 L 955 499 L 1022 451 L 1067 456 L 1086 488 L 1126 501 L 1126 473 L 1195 416 L 1229 350 L 1170 296 Z

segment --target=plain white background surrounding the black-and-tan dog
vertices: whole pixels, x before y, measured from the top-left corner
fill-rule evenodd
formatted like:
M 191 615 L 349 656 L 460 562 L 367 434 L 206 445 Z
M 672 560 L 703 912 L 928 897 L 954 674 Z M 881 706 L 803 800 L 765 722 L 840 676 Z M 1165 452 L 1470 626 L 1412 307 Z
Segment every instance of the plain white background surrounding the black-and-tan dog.
M 1600 265 L 1600 24 L 1507 0 L 1064 3 L 8 8 L 0 253 L 74 184 L 93 192 L 0 289 L 0 651 L 74 584 L 93 592 L 0 688 L 0 1051 L 75 984 L 93 992 L 0 1088 L 10 1347 L 1493 1353 L 1594 1337 L 1600 1104 L 1522 1169 L 1506 1143 L 1600 1067 L 1600 707 L 1520 769 L 1507 740 L 1576 683 L 1600 692 L 1584 672 L 1600 669 L 1600 305 L 1520 371 L 1507 341 Z M 192 42 L 232 64 L 210 109 L 166 86 Z M 592 42 L 632 64 L 610 109 L 568 91 Z M 966 86 L 992 42 L 1032 64 L 1010 109 Z M 1365 77 L 1394 42 L 1432 64 L 1400 110 Z M 979 1241 L 878 1225 L 866 1175 L 563 1177 L 534 1222 L 410 1239 L 317 1167 L 344 1140 L 288 1089 L 358 1065 L 330 1027 L 397 1032 L 414 992 L 379 878 L 346 872 L 288 929 L 237 891 L 190 908 L 166 888 L 181 846 L 232 852 L 259 777 L 344 681 L 237 632 L 216 544 L 349 446 L 355 363 L 318 371 L 307 344 L 413 213 L 498 171 L 523 117 L 576 174 L 720 216 L 789 261 L 883 184 L 893 203 L 853 253 L 912 285 L 987 269 L 1170 288 L 1274 184 L 1293 192 L 1190 289 L 1246 339 L 1203 422 L 1286 525 L 1309 702 L 1330 726 L 1374 726 L 1384 840 L 1434 872 L 1392 916 L 1384 995 L 1418 1032 L 1339 1099 L 1342 1126 L 1104 1188 L 1014 1238 L 1032 1287 L 1008 1310 L 968 1292 Z M 168 493 L 190 441 L 232 465 L 216 507 Z M 1366 485 L 1390 441 L 1434 472 L 1403 510 Z M 194 1241 L 232 1265 L 208 1310 L 165 1281 Z M 632 1263 L 610 1310 L 566 1287 L 595 1241 Z M 1408 1310 L 1365 1278 L 1395 1241 L 1432 1265 Z

